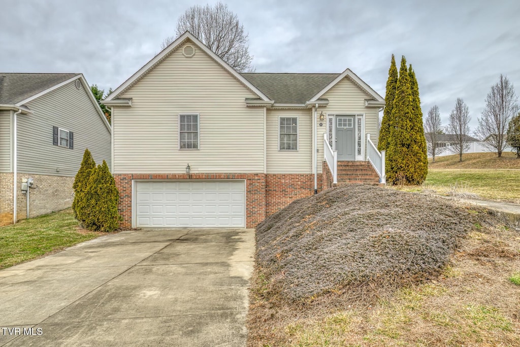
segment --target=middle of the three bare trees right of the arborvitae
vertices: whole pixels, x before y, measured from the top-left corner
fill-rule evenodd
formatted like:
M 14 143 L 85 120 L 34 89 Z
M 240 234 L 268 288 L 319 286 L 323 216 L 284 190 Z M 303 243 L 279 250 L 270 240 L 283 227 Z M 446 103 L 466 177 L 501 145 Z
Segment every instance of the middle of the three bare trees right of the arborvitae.
M 457 98 L 455 108 L 450 113 L 447 130 L 454 135 L 455 143 L 451 146 L 451 151 L 459 154 L 459 161 L 462 161 L 462 153 L 470 149 L 470 121 L 470 109 L 464 100 Z

